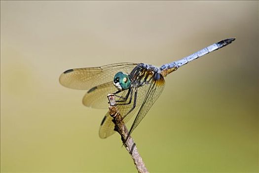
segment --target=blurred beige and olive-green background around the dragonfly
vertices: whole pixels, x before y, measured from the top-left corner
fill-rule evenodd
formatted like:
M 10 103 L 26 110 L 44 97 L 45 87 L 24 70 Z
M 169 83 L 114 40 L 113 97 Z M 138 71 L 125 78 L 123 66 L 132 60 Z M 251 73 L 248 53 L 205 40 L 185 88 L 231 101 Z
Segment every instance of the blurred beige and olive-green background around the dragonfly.
M 187 64 L 133 132 L 150 172 L 258 172 L 258 1 L 1 1 L 1 172 L 136 172 L 68 69 Z

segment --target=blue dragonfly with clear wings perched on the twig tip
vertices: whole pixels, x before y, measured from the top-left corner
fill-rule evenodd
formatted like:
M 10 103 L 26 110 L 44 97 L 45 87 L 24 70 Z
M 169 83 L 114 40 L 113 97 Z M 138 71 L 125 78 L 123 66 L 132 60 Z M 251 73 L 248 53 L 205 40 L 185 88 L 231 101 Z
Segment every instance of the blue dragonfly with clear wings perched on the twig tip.
M 70 69 L 61 74 L 59 82 L 64 87 L 88 90 L 82 99 L 83 105 L 87 107 L 107 108 L 107 95 L 113 93 L 124 123 L 136 115 L 129 130 L 130 135 L 160 96 L 165 86 L 164 78 L 168 74 L 234 40 L 235 38 L 229 38 L 214 43 L 160 68 L 145 63 L 114 63 L 100 67 Z M 112 119 L 109 112 L 103 118 L 99 128 L 101 138 L 115 133 Z

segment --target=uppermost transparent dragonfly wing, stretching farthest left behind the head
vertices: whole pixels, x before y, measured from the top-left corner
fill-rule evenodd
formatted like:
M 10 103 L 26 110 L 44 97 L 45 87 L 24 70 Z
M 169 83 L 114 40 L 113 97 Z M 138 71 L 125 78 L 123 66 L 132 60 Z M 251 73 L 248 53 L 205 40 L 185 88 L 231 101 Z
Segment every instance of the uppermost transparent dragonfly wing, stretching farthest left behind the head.
M 59 82 L 64 87 L 90 89 L 113 81 L 114 75 L 121 71 L 130 74 L 136 63 L 116 63 L 101 67 L 70 69 L 62 73 Z

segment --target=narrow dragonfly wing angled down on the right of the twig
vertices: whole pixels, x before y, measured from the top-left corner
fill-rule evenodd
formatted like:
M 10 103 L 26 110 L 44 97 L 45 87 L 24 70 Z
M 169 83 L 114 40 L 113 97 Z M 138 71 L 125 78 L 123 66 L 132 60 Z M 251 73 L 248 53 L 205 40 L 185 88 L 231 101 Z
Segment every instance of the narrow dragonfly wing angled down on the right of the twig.
M 164 86 L 165 86 L 165 80 L 162 76 L 160 76 L 159 80 L 152 79 L 152 82 L 149 85 L 148 91 L 146 92 L 147 94 L 145 95 L 145 98 L 139 109 L 139 112 L 129 130 L 129 135 L 139 125 L 139 123 L 143 120 L 143 118 L 147 115 L 151 106 L 160 96 L 162 90 L 164 89 Z

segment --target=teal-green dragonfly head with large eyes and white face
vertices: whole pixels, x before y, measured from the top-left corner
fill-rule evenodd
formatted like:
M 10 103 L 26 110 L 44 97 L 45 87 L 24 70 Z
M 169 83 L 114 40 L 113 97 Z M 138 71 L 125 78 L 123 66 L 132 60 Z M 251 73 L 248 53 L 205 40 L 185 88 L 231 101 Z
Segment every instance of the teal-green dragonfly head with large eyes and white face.
M 131 81 L 129 79 L 129 75 L 126 75 L 122 72 L 116 73 L 113 79 L 113 84 L 119 90 L 128 89 L 131 85 Z

